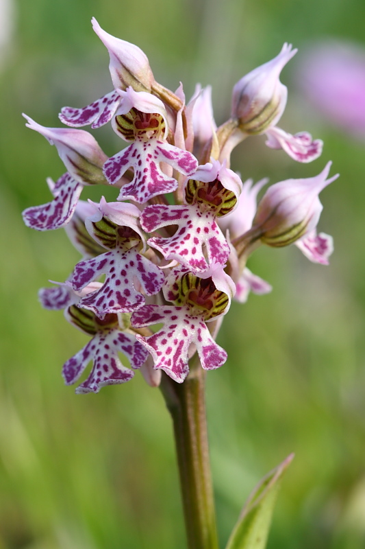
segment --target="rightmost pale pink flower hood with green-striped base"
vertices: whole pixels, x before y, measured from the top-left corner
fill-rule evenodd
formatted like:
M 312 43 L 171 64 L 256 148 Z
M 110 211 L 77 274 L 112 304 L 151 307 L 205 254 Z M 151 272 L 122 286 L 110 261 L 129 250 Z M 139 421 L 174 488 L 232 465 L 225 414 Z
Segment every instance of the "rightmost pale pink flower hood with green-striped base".
M 270 187 L 257 207 L 251 231 L 268 246 L 292 244 L 316 228 L 323 209 L 318 194 L 338 174 L 327 179 L 331 162 L 318 176 L 288 179 Z

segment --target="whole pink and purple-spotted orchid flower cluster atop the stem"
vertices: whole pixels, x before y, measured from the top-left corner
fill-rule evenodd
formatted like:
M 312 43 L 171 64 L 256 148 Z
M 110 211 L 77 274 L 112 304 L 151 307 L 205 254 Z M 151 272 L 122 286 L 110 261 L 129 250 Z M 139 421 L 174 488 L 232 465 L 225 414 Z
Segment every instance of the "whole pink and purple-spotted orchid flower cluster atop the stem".
M 65 283 L 40 290 L 40 301 L 92 336 L 64 364 L 73 384 L 92 362 L 77 393 L 126 382 L 135 369 L 152 386 L 161 371 L 181 383 L 194 353 L 205 370 L 227 359 L 215 338 L 231 299 L 271 290 L 246 266 L 257 246 L 295 243 L 311 261 L 328 263 L 331 237 L 316 233 L 318 194 L 337 176 L 327 179 L 328 163 L 315 177 L 270 186 L 257 205 L 267 180 L 242 184 L 229 167 L 231 150 L 249 135 L 266 134 L 269 147 L 299 162 L 320 155 L 321 141 L 276 126 L 287 97 L 279 75 L 296 53 L 290 45 L 234 86 L 231 118 L 217 128 L 209 87 L 197 86 L 186 104 L 182 86 L 173 93 L 155 81 L 137 46 L 95 19 L 92 25 L 108 49 L 114 90 L 84 108 L 62 108 L 68 128 L 25 117 L 66 167 L 48 180 L 53 200 L 26 209 L 25 223 L 38 231 L 64 227 L 83 256 Z M 127 142 L 111 158 L 77 129 L 108 122 Z M 79 200 L 87 185 L 112 185 L 116 201 Z

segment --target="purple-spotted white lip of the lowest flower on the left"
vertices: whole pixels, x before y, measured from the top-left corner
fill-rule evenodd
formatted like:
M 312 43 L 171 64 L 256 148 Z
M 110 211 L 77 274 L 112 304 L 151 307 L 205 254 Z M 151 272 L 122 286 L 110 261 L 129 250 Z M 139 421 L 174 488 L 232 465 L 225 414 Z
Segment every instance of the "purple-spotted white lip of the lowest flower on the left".
M 134 372 L 121 364 L 117 354 L 119 350 L 125 352 L 123 349 L 123 345 L 127 347 L 125 335 L 116 329 L 97 332 L 84 349 L 64 364 L 62 375 L 66 385 L 75 383 L 91 360 L 92 371 L 88 379 L 77 387 L 76 393 L 98 393 L 105 385 L 129 381 L 134 376 Z

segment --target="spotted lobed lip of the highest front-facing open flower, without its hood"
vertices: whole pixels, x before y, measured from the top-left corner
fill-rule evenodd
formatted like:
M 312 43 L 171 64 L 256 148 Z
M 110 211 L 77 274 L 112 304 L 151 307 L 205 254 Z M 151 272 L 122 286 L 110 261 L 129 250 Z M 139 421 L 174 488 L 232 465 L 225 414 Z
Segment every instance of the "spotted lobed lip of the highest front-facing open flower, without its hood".
M 134 179 L 122 187 L 118 200 L 135 200 L 144 204 L 153 196 L 177 189 L 177 180 L 162 172 L 161 162 L 170 164 L 186 176 L 194 173 L 198 166 L 197 159 L 190 152 L 166 141 L 136 139 L 129 147 L 108 159 L 103 172 L 109 183 L 114 185 L 126 170 L 133 168 Z

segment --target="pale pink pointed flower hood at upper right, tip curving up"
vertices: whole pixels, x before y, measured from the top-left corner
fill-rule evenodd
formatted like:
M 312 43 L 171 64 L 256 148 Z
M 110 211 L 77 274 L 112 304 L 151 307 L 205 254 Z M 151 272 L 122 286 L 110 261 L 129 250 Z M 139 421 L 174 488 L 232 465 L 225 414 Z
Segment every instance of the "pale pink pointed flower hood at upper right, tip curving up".
M 279 120 L 288 95 L 279 76 L 296 53 L 297 49 L 285 43 L 278 56 L 245 75 L 234 86 L 231 116 L 238 119 L 242 131 L 260 134 Z

